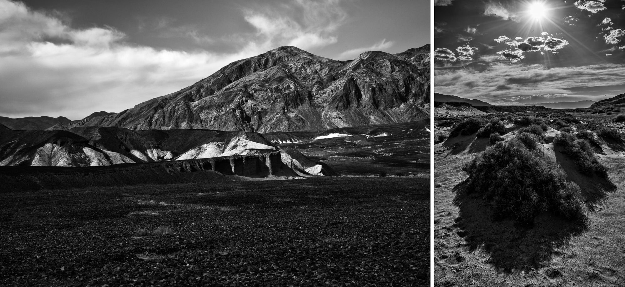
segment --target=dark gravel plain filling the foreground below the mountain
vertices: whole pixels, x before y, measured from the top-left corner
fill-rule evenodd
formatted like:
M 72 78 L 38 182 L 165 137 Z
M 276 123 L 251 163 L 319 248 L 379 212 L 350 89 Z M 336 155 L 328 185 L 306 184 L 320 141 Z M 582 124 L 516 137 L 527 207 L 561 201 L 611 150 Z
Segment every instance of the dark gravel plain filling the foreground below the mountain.
M 0 193 L 2 286 L 426 286 L 429 180 Z

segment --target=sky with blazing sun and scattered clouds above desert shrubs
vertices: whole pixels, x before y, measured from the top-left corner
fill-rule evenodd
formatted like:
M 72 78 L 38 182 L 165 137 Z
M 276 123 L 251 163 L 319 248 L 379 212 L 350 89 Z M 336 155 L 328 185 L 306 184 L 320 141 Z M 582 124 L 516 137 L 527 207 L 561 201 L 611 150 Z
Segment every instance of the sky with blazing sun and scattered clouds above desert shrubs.
M 435 0 L 441 94 L 491 104 L 625 93 L 625 1 Z

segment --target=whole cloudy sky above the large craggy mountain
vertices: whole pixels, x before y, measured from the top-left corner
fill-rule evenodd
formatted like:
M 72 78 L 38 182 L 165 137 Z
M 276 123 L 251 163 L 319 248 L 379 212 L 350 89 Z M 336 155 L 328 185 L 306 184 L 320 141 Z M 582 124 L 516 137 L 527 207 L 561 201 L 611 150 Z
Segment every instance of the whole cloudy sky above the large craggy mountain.
M 430 42 L 429 11 L 429 0 L 0 0 L 0 116 L 121 112 L 279 46 L 394 54 Z

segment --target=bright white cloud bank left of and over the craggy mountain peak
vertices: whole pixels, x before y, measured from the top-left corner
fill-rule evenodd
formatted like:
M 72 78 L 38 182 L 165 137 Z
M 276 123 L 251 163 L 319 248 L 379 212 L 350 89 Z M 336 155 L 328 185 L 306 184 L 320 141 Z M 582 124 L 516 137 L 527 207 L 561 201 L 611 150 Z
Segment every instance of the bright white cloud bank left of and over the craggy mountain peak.
M 242 35 L 246 42 L 236 51 L 219 54 L 139 46 L 113 27 L 77 29 L 22 2 L 0 0 L 0 114 L 81 119 L 94 110 L 119 112 L 278 46 L 336 42 L 332 32 L 346 18 L 336 0 L 242 12 L 255 32 Z

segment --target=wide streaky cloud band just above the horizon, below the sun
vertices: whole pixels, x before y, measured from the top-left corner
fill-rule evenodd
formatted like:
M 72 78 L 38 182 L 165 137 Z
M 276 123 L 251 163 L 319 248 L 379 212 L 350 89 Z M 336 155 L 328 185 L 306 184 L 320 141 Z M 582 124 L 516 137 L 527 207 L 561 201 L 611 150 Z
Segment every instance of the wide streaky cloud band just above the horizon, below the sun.
M 514 95 L 572 94 L 578 87 L 611 87 L 622 82 L 625 66 L 621 64 L 600 64 L 579 67 L 553 67 L 524 65 L 519 63 L 491 63 L 488 69 L 476 71 L 464 69 L 435 69 L 436 92 L 462 97 L 501 96 L 509 99 Z M 469 89 L 464 82 L 472 82 Z M 621 94 L 617 91 L 617 94 Z M 612 95 L 613 96 L 613 95 Z M 586 99 L 577 100 L 589 100 Z M 596 100 L 596 99 L 595 99 Z M 557 99 L 554 102 L 574 101 Z M 545 101 L 542 101 L 545 102 Z

